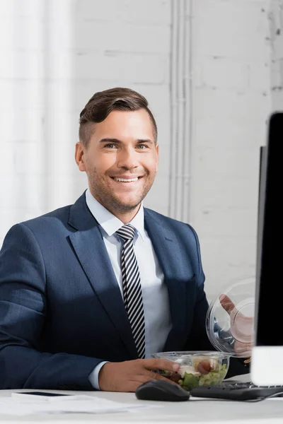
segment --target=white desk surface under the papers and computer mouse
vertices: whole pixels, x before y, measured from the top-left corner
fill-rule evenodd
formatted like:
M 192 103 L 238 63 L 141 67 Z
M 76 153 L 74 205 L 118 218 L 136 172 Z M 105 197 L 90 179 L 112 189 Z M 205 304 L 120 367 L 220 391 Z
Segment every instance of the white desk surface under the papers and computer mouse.
M 28 390 L 25 390 L 28 391 Z M 45 390 L 46 391 L 46 390 Z M 54 390 L 50 390 L 54 391 Z M 0 391 L 0 397 L 11 396 L 11 390 Z M 59 392 L 59 391 L 58 391 Z M 62 393 L 88 394 L 113 401 L 127 403 L 138 401 L 133 393 L 111 393 L 97 391 L 62 391 Z M 98 424 L 116 423 L 210 423 L 210 424 L 283 424 L 283 399 L 265 400 L 255 403 L 218 401 L 213 399 L 191 398 L 185 402 L 152 402 L 162 408 L 148 408 L 128 413 L 108 414 L 62 414 L 11 417 L 1 416 L 0 424 L 18 423 L 50 423 L 50 424 L 83 424 L 95 422 Z

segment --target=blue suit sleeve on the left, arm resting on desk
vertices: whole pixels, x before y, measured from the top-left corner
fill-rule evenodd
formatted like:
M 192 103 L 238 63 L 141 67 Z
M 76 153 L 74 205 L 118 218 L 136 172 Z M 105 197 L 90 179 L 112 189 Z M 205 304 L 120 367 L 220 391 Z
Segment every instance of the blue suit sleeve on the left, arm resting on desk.
M 100 359 L 40 351 L 45 284 L 33 232 L 25 224 L 13 226 L 0 252 L 0 389 L 91 390 L 88 376 Z

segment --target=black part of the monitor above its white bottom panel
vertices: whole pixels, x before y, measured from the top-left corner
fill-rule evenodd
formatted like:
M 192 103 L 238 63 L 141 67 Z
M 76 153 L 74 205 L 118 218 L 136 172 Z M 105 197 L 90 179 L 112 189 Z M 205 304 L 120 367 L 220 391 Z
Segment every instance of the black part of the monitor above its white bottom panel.
M 272 114 L 260 167 L 255 344 L 283 346 L 283 112 Z

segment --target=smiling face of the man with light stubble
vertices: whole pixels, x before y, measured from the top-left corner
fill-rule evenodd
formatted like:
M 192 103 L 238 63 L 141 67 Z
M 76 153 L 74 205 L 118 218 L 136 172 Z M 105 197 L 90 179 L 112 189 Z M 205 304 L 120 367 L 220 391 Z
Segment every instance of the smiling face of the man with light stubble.
M 86 171 L 94 197 L 112 213 L 133 211 L 154 182 L 158 146 L 146 110 L 114 110 L 98 124 L 85 148 L 76 145 L 76 163 Z

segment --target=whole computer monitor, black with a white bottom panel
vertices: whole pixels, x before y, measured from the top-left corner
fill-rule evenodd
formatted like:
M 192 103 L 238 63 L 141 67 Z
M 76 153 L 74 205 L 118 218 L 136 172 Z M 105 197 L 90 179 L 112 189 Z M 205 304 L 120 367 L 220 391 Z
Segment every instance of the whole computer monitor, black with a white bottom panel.
M 262 151 L 251 380 L 283 385 L 283 112 L 270 116 Z

